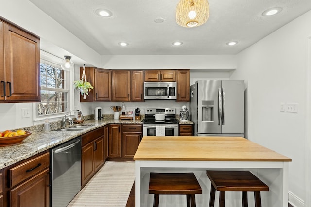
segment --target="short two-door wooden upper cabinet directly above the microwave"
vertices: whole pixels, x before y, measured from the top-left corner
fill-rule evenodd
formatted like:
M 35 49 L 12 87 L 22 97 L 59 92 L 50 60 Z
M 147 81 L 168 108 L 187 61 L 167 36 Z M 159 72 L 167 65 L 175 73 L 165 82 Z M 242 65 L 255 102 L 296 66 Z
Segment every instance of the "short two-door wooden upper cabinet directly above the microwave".
M 145 82 L 175 82 L 176 70 L 145 70 Z

